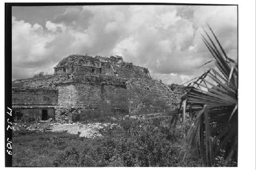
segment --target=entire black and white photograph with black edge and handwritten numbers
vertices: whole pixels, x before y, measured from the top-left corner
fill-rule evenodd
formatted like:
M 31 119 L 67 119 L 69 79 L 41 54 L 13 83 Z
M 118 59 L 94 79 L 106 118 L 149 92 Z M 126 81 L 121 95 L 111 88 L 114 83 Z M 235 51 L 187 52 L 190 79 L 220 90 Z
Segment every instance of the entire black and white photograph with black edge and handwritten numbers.
M 238 11 L 8 3 L 6 166 L 238 167 Z

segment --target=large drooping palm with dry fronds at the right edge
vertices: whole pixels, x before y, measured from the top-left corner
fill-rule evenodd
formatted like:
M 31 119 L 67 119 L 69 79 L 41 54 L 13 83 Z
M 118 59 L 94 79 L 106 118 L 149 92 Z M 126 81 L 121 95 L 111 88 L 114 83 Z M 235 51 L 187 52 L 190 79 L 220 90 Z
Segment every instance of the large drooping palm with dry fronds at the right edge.
M 202 40 L 214 57 L 217 68 L 209 69 L 186 87 L 182 96 L 183 104 L 173 116 L 172 125 L 176 126 L 179 116 L 183 117 L 184 122 L 185 114 L 195 112 L 197 108 L 195 122 L 184 138 L 180 157 L 185 159 L 190 149 L 197 148 L 203 163 L 213 166 L 215 157 L 224 147 L 225 164 L 237 156 L 238 64 L 227 57 L 210 27 L 209 30 L 214 38 L 204 30 L 206 36 L 202 35 Z

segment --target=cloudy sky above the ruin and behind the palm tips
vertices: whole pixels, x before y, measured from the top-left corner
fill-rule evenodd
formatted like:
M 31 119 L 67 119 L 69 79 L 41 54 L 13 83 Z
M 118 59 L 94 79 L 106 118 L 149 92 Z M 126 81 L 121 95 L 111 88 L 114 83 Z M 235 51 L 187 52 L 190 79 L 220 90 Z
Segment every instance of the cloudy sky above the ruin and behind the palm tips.
M 53 67 L 71 54 L 123 56 L 153 78 L 182 84 L 212 65 L 200 33 L 209 23 L 237 60 L 236 6 L 12 7 L 12 80 Z

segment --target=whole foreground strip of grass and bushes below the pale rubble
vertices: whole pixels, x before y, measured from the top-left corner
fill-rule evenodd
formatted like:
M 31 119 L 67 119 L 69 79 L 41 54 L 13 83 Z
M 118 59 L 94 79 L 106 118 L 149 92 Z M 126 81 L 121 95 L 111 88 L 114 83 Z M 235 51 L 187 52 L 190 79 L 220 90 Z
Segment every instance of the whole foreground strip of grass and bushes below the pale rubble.
M 85 138 L 56 132 L 13 133 L 13 166 L 202 166 L 195 152 L 178 159 L 183 130 L 143 125 L 131 134 L 114 130 Z M 223 161 L 222 161 L 223 162 Z M 218 161 L 217 166 L 222 166 Z

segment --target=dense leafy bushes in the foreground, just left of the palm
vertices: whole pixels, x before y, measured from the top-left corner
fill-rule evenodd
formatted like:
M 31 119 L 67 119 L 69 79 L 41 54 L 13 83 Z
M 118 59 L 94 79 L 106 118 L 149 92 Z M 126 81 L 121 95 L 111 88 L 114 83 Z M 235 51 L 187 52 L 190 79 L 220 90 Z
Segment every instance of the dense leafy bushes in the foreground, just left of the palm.
M 148 125 L 130 138 L 97 138 L 57 155 L 54 166 L 176 166 L 179 144 Z

